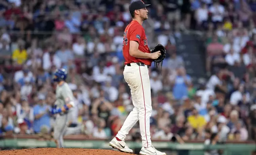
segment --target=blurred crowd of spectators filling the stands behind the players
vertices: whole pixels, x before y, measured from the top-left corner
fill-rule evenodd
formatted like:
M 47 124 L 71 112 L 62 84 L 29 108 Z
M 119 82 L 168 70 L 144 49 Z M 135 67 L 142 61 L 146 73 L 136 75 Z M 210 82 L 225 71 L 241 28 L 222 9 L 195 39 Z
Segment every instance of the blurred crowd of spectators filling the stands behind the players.
M 152 139 L 246 141 L 256 135 L 253 0 L 145 0 L 148 38 L 166 46 L 162 70 L 149 68 Z M 132 111 L 123 79 L 123 30 L 130 0 L 0 1 L 0 134 L 50 134 L 52 72 L 68 70 L 76 102 L 70 127 L 111 138 Z M 209 79 L 195 87 L 176 54 L 182 32 L 206 33 Z M 202 60 L 203 61 L 203 60 Z M 196 68 L 195 68 L 196 69 Z M 160 73 L 161 72 L 161 73 Z M 128 139 L 138 139 L 139 125 Z

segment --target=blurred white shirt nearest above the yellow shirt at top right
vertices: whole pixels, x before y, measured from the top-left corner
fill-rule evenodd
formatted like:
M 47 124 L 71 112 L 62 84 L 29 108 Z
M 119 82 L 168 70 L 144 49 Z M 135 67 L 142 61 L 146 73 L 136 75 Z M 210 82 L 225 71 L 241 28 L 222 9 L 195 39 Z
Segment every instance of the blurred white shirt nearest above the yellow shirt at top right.
M 212 5 L 210 8 L 209 8 L 209 11 L 213 14 L 211 20 L 213 22 L 222 22 L 223 21 L 223 15 L 224 15 L 224 12 L 225 12 L 225 9 L 222 5 L 218 5 L 218 6 L 214 6 Z M 219 15 L 220 13 L 220 15 Z

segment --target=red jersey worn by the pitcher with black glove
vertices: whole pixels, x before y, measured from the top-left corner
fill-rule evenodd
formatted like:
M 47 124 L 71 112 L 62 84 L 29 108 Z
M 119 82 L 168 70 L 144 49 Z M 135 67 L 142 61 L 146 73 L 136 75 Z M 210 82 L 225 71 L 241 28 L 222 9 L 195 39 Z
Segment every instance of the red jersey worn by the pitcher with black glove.
M 130 51 L 130 41 L 136 41 L 139 43 L 139 50 L 145 53 L 150 53 L 150 49 L 147 46 L 147 38 L 145 30 L 138 21 L 132 21 L 129 25 L 126 26 L 124 30 L 124 41 L 123 41 L 123 55 L 124 55 L 124 64 L 130 64 L 132 62 L 142 62 L 145 65 L 151 66 L 152 59 L 141 59 L 132 57 L 129 53 Z

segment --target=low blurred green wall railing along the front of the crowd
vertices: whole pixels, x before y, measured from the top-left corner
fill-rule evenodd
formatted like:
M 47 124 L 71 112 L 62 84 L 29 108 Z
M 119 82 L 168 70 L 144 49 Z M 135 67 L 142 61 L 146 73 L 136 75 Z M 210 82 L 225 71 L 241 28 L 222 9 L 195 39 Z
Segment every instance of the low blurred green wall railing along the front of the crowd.
M 131 149 L 140 149 L 141 142 L 126 141 Z M 187 151 L 188 155 L 204 155 L 206 150 L 221 149 L 223 155 L 252 155 L 256 151 L 256 143 L 253 141 L 246 142 L 226 142 L 206 146 L 202 141 L 188 141 L 185 144 L 178 144 L 169 141 L 153 141 L 153 146 L 166 151 Z M 109 140 L 88 139 L 84 135 L 69 135 L 64 138 L 64 146 L 68 148 L 91 148 L 91 149 L 111 149 Z M 56 147 L 53 141 L 39 140 L 37 135 L 14 135 L 6 136 L 0 140 L 0 148 L 39 148 L 39 147 Z M 182 154 L 183 155 L 183 154 Z

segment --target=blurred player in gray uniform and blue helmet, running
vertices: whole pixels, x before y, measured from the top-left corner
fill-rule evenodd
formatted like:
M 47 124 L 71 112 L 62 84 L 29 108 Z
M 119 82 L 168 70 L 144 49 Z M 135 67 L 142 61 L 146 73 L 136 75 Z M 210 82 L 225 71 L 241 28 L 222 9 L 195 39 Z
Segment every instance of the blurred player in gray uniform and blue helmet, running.
M 56 114 L 56 120 L 54 125 L 54 139 L 58 148 L 63 148 L 63 136 L 68 134 L 76 134 L 83 132 L 83 127 L 68 127 L 68 121 L 72 110 L 74 110 L 74 96 L 73 92 L 65 82 L 67 72 L 65 69 L 57 69 L 54 72 L 53 81 L 57 82 L 56 86 L 56 101 L 54 102 L 54 108 L 50 110 L 52 115 Z

